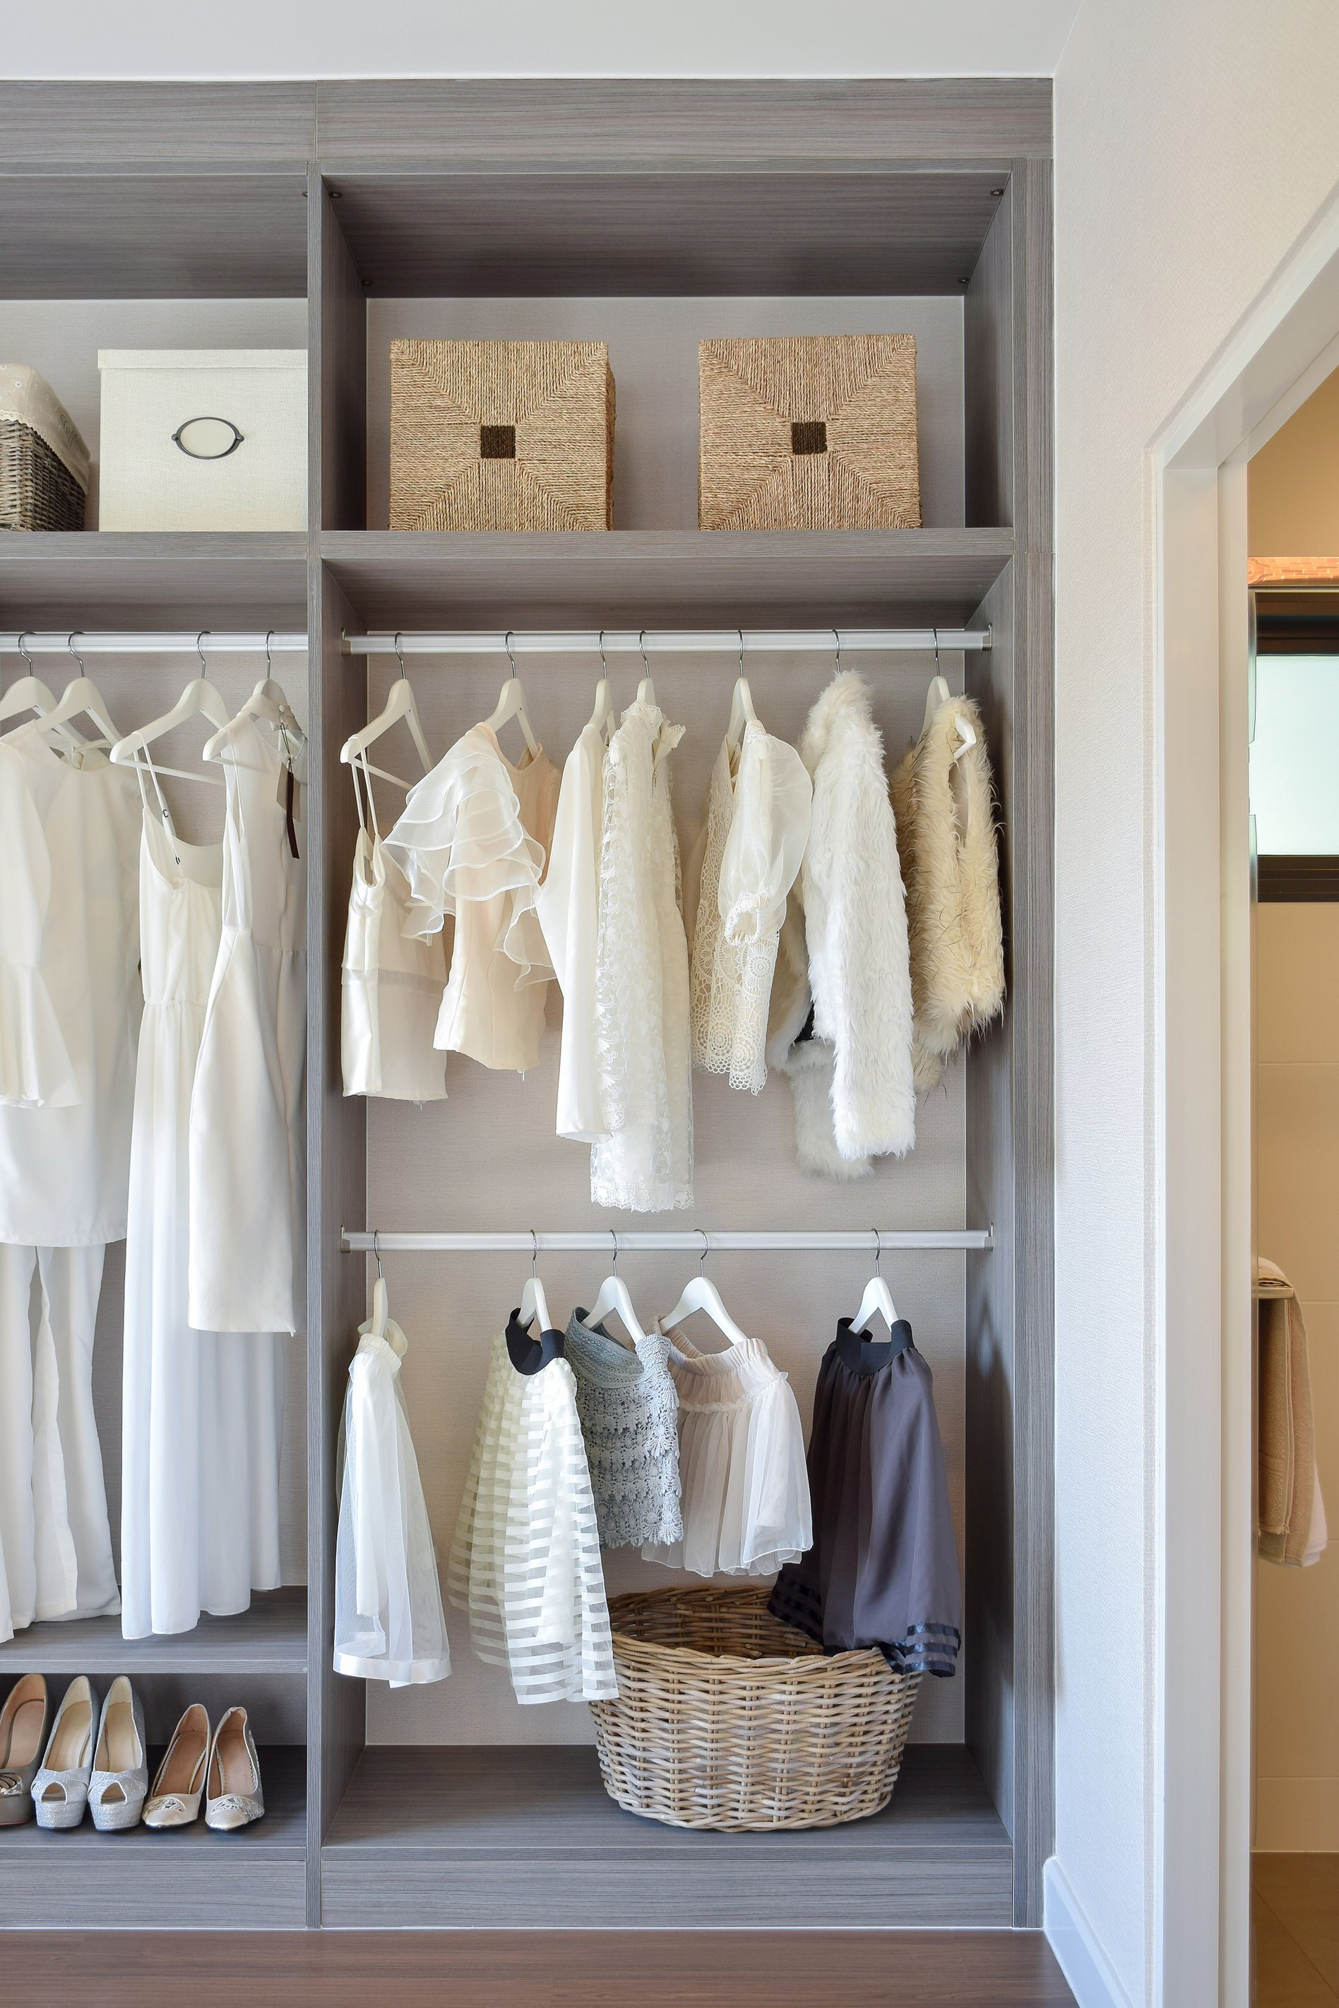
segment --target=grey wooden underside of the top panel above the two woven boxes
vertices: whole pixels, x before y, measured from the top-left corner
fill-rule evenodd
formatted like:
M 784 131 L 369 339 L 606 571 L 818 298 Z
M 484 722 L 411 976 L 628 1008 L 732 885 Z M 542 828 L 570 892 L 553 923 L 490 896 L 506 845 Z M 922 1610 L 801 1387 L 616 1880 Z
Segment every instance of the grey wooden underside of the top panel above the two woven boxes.
M 375 295 L 960 293 L 1004 195 L 964 173 L 339 173 Z

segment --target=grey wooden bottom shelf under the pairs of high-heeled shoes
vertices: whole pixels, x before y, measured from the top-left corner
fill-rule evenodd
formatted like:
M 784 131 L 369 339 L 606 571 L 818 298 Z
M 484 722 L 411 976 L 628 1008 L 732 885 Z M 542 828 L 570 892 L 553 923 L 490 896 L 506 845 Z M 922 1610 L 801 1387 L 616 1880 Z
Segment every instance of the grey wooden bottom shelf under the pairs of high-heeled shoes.
M 161 1757 L 149 1751 L 151 1779 Z M 205 1930 L 243 1912 L 251 1930 L 301 1930 L 307 1751 L 271 1743 L 259 1759 L 265 1817 L 237 1833 L 213 1833 L 203 1813 L 165 1833 L 98 1833 L 90 1817 L 68 1833 L 0 1827 L 0 1930 Z

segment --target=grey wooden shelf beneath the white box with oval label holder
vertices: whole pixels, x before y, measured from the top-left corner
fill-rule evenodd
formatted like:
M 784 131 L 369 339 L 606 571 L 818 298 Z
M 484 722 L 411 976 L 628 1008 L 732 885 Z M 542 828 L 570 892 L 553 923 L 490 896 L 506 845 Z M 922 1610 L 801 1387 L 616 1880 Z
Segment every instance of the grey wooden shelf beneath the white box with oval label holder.
M 299 530 L 0 534 L 0 629 L 307 626 Z

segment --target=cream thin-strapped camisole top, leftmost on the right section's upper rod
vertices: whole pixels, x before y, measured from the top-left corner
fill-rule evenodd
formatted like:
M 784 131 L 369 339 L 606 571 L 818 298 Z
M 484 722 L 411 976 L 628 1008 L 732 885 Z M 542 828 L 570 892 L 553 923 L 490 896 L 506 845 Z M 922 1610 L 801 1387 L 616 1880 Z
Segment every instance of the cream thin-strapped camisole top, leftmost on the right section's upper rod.
M 343 938 L 343 1092 L 395 1102 L 440 1102 L 446 1100 L 446 1058 L 434 1048 L 432 1036 L 446 988 L 444 938 L 432 934 L 418 940 L 406 934 L 410 882 L 381 841 L 365 759 L 361 769 L 359 785 L 359 763 L 353 765 L 357 847 Z

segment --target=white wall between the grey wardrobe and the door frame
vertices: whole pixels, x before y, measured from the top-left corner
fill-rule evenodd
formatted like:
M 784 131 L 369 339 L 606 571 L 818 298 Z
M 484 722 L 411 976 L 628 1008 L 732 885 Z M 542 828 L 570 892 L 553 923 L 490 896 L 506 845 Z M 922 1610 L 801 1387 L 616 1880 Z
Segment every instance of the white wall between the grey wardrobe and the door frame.
M 1335 189 L 1337 62 L 1327 0 L 1084 0 L 1056 72 L 1056 1853 L 1130 2002 L 1158 2000 L 1144 448 Z

